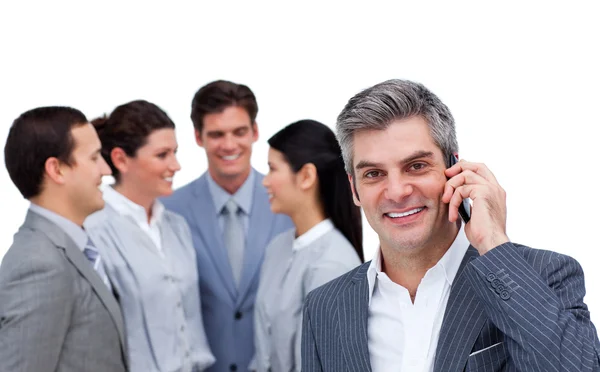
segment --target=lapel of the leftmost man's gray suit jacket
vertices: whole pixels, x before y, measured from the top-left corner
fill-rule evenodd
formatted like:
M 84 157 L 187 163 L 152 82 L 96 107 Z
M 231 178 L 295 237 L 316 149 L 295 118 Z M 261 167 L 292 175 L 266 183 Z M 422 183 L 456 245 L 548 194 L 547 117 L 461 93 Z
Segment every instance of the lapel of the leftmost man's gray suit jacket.
M 38 216 L 33 212 L 28 212 L 26 218 L 26 224 L 27 223 L 30 224 L 30 226 L 43 231 L 58 248 L 64 249 L 67 259 L 75 266 L 81 276 L 90 283 L 92 289 L 96 292 L 96 295 L 108 310 L 117 327 L 121 346 L 125 349 L 125 331 L 121 308 L 113 294 L 106 287 L 106 284 L 104 284 L 98 273 L 96 273 L 90 262 L 83 255 L 83 252 L 81 252 L 75 242 L 73 242 L 60 227 L 46 218 Z

